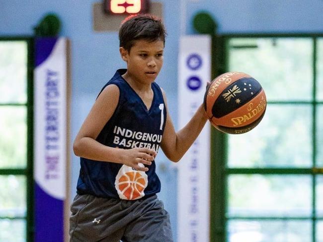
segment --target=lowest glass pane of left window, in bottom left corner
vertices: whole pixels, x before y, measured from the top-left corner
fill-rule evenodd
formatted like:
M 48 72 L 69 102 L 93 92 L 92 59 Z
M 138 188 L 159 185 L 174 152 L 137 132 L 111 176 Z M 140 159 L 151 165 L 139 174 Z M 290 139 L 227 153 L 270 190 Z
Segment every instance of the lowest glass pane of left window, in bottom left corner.
M 26 221 L 0 219 L 0 241 L 26 242 Z

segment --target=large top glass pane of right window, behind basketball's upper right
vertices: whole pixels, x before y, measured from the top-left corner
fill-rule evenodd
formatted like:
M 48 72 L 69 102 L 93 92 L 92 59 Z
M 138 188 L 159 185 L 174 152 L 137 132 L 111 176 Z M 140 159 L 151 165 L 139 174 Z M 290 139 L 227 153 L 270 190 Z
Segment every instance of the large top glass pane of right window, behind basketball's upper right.
M 267 99 L 312 100 L 311 38 L 232 38 L 229 71 L 260 82 Z

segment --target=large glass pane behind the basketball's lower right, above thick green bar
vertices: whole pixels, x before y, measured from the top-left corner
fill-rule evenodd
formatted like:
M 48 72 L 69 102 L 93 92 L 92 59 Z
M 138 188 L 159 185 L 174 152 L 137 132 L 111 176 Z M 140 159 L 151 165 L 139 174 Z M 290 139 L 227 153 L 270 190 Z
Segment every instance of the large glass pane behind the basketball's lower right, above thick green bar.
M 268 104 L 256 128 L 228 136 L 229 167 L 312 166 L 311 120 L 311 105 Z

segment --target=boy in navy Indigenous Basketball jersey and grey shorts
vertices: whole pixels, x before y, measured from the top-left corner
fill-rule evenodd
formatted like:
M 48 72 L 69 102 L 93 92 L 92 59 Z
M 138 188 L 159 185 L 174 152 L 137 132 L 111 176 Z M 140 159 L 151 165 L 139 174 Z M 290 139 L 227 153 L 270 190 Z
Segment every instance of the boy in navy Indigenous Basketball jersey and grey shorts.
M 155 82 L 165 29 L 150 15 L 128 17 L 119 30 L 118 70 L 99 93 L 74 142 L 81 157 L 71 206 L 72 242 L 172 242 L 168 213 L 156 193 L 159 148 L 177 162 L 204 127 L 202 105 L 175 132 L 166 96 Z

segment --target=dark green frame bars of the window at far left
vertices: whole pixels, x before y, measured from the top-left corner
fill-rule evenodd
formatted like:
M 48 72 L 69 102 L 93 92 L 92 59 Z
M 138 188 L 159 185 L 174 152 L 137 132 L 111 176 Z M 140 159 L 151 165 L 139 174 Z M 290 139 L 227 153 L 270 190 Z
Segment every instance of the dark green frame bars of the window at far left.
M 33 201 L 34 201 L 34 182 L 33 182 L 33 53 L 34 53 L 34 40 L 32 37 L 7 37 L 0 36 L 1 42 L 25 42 L 27 48 L 27 66 L 26 66 L 26 102 L 0 102 L 1 107 L 25 107 L 26 111 L 26 164 L 25 167 L 5 167 L 0 166 L 0 177 L 19 175 L 25 178 L 26 190 L 26 213 L 25 216 L 4 216 L 0 220 L 25 220 L 26 228 L 25 235 L 27 242 L 33 241 L 34 228 L 33 228 Z M 1 90 L 0 90 L 1 94 Z M 0 115 L 2 116 L 2 115 Z M 3 117 L 3 116 L 2 116 Z M 1 161 L 0 161 L 1 162 Z M 0 191 L 1 192 L 1 191 Z M 1 207 L 1 206 L 0 206 Z

